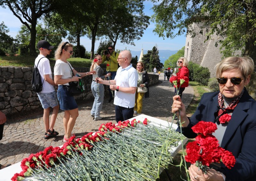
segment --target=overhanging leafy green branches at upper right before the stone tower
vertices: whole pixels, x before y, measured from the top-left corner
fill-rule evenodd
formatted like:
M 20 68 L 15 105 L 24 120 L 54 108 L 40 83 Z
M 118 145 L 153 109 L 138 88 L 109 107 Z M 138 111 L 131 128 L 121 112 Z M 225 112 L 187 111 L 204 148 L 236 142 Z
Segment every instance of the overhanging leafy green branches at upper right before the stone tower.
M 151 1 L 156 3 L 156 0 Z M 206 27 L 206 40 L 212 34 L 223 38 L 217 41 L 216 45 L 221 43 L 221 48 L 225 47 L 224 56 L 241 50 L 242 55 L 252 57 L 256 64 L 255 0 L 163 0 L 152 9 L 155 12 L 152 20 L 156 22 L 154 32 L 160 37 L 174 38 L 186 32 L 193 36 L 192 23 L 204 22 L 201 28 Z M 174 31 L 176 29 L 178 31 Z M 256 98 L 254 81 L 255 70 L 248 91 Z

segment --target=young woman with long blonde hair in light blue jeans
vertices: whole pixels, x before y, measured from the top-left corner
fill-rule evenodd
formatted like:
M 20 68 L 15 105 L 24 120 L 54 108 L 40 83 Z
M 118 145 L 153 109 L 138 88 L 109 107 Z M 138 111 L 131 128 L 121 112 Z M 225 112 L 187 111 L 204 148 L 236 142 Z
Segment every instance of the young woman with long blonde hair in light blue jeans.
M 108 73 L 107 75 L 103 76 L 103 69 L 101 69 L 100 64 L 102 63 L 102 57 L 97 54 L 95 59 L 92 61 L 92 65 L 90 71 L 96 71 L 96 74 L 92 75 L 92 94 L 94 96 L 94 102 L 92 105 L 91 115 L 90 117 L 94 117 L 94 120 L 100 120 L 100 111 L 102 108 L 103 100 L 104 100 L 104 85 L 101 83 L 97 83 L 96 77 L 100 77 L 102 79 L 110 76 L 111 74 Z

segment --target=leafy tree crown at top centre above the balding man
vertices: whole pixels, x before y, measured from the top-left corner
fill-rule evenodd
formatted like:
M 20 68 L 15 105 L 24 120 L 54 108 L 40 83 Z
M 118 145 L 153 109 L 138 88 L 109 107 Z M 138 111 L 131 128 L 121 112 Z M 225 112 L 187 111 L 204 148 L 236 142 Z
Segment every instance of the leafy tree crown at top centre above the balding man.
M 101 34 L 108 36 L 114 48 L 118 39 L 122 43 L 135 45 L 134 40 L 140 40 L 149 25 L 150 17 L 143 12 L 143 0 L 122 0 L 111 8 L 113 10 L 107 15 L 109 21 L 101 23 Z

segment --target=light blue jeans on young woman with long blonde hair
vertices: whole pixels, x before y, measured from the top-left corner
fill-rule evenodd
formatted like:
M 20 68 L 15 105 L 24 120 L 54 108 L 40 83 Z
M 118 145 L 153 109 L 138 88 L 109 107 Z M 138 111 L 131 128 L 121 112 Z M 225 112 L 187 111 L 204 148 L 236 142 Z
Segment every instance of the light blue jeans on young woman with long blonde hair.
M 94 118 L 99 118 L 104 99 L 104 86 L 103 84 L 92 81 L 91 89 L 94 96 L 91 115 L 94 115 Z

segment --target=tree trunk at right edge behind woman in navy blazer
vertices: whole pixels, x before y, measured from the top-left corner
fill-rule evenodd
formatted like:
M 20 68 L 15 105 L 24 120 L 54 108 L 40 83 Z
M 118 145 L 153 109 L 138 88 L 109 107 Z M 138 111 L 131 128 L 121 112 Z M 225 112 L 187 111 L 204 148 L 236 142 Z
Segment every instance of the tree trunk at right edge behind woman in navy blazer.
M 251 12 L 250 12 L 251 11 Z M 256 99 L 256 72 L 255 72 L 255 65 L 256 65 L 256 46 L 254 45 L 254 42 L 256 42 L 256 37 L 254 36 L 256 34 L 256 28 L 253 27 L 252 23 L 249 22 L 250 19 L 256 19 L 256 4 L 253 5 L 253 8 L 246 11 L 246 34 L 247 41 L 245 43 L 245 50 L 244 50 L 244 56 L 249 56 L 252 58 L 254 62 L 254 72 L 252 74 L 250 83 L 246 86 L 246 89 L 248 90 L 249 94 L 252 96 L 252 98 Z M 251 16 L 248 16 L 250 14 Z M 252 28 L 253 27 L 253 28 Z

